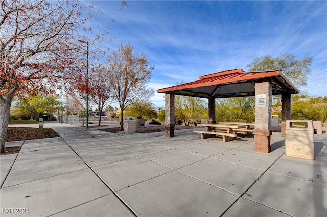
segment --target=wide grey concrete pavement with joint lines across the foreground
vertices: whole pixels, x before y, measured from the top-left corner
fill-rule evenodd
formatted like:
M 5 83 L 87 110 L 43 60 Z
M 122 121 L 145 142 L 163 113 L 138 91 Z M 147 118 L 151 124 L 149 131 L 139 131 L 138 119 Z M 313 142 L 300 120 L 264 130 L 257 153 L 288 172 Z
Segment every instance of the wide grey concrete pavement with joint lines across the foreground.
M 280 133 L 262 154 L 253 137 L 222 143 L 193 129 L 166 138 L 47 125 L 61 138 L 25 141 L 19 154 L 1 156 L 1 216 L 327 213 L 325 133 L 315 134 L 315 160 L 304 160 L 285 156 Z

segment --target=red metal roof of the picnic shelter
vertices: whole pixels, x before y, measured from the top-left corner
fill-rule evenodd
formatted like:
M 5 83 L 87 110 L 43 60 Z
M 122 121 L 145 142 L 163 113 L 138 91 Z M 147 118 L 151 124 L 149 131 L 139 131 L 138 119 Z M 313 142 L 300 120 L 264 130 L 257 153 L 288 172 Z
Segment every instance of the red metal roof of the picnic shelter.
M 157 92 L 201 98 L 255 96 L 254 84 L 267 80 L 272 84 L 272 95 L 299 93 L 280 69 L 256 72 L 246 72 L 243 69 L 226 70 L 200 76 L 199 80 L 194 82 L 162 88 Z

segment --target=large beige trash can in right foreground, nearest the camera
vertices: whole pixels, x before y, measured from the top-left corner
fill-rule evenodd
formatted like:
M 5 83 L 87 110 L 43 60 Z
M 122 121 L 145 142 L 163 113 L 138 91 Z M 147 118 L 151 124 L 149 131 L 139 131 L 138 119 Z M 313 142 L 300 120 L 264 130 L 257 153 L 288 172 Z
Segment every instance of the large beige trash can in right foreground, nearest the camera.
M 297 125 L 304 123 L 305 125 Z M 315 159 L 314 128 L 312 120 L 287 120 L 285 127 L 285 155 L 302 159 Z

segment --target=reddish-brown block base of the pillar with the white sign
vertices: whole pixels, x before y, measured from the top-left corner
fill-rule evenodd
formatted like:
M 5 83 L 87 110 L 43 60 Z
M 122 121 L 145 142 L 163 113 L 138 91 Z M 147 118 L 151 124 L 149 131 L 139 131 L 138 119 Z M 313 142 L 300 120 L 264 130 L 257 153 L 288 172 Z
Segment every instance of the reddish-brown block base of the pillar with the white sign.
M 261 153 L 269 153 L 270 147 L 270 136 L 272 130 L 265 129 L 253 129 L 254 134 L 254 151 Z

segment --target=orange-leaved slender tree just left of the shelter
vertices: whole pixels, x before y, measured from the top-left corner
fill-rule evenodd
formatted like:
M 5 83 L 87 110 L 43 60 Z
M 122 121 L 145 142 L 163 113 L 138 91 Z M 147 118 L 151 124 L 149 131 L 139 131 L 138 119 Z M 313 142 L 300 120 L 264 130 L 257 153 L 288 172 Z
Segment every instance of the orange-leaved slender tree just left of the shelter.
M 138 100 L 150 98 L 154 94 L 147 87 L 153 66 L 149 66 L 146 55 L 133 53 L 130 44 L 121 45 L 118 51 L 108 56 L 108 67 L 112 96 L 121 109 L 121 130 L 123 130 L 124 110 Z

